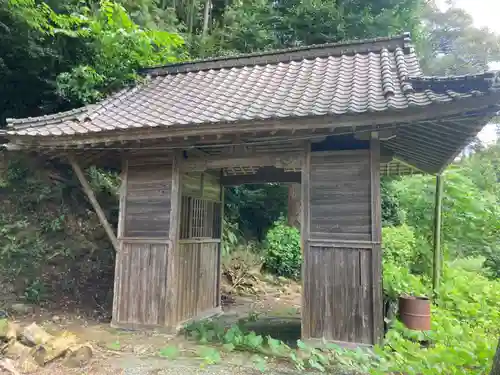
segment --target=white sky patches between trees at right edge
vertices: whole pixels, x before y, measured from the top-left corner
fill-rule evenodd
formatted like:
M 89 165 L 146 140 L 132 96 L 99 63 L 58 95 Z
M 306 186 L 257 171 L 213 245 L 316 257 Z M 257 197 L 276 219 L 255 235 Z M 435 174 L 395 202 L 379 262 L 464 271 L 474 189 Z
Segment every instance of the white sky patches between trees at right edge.
M 436 0 L 440 7 L 446 7 L 446 0 Z M 500 34 L 500 0 L 454 0 L 455 6 L 467 11 L 478 27 L 488 27 Z M 490 69 L 500 70 L 500 62 L 491 64 Z M 496 139 L 495 125 L 486 125 L 478 134 L 484 143 L 494 142 Z

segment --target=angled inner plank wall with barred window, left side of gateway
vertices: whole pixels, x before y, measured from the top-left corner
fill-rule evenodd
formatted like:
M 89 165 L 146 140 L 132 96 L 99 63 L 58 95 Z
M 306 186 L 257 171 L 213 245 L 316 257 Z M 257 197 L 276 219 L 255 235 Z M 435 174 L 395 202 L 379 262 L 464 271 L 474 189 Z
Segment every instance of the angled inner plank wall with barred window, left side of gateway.
M 205 172 L 181 175 L 180 240 L 175 251 L 177 323 L 202 317 L 219 306 L 222 188 Z

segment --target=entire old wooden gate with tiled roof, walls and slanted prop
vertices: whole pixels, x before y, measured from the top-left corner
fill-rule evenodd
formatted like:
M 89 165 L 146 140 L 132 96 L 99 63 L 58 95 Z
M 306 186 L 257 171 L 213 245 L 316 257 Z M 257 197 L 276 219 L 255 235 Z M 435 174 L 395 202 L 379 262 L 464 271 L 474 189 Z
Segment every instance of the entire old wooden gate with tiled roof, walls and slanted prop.
M 425 77 L 407 34 L 144 73 L 0 131 L 9 152 L 72 165 L 117 252 L 112 324 L 175 331 L 219 312 L 223 186 L 300 183 L 302 338 L 379 342 L 380 174 L 439 175 L 496 115 L 499 75 Z M 121 165 L 116 234 L 89 165 Z

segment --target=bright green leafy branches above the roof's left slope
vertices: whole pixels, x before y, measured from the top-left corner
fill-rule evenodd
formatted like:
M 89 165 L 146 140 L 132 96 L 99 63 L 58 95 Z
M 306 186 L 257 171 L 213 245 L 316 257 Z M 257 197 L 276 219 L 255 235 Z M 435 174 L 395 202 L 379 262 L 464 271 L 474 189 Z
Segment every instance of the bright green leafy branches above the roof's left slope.
M 97 10 L 82 7 L 72 14 L 29 0 L 11 0 L 11 7 L 34 17 L 31 26 L 47 37 L 83 41 L 88 58 L 57 76 L 59 94 L 74 103 L 92 103 L 134 83 L 141 67 L 176 61 L 183 44 L 176 34 L 142 29 L 123 6 L 108 0 Z

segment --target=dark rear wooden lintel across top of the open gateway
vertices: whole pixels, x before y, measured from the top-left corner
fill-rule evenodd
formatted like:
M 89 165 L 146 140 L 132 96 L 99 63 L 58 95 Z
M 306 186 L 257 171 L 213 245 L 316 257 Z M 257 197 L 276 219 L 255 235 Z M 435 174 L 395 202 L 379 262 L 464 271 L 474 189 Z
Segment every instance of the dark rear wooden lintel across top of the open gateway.
M 222 176 L 224 186 L 238 186 L 244 184 L 265 184 L 267 182 L 300 183 L 301 172 L 285 172 L 273 167 L 259 168 L 257 173 L 246 175 Z

